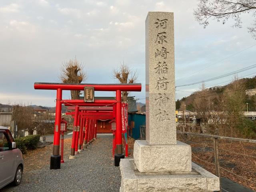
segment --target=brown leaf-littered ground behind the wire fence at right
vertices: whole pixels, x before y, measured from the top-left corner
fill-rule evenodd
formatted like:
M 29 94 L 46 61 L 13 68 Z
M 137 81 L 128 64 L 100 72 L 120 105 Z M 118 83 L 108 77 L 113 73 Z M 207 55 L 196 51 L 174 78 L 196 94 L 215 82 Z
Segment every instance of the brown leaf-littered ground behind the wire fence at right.
M 182 138 L 178 138 L 178 140 L 184 142 Z M 205 138 L 190 138 L 189 141 L 197 143 L 188 142 L 192 147 L 192 161 L 216 174 L 213 141 Z M 212 150 L 210 151 L 210 149 Z M 219 160 L 222 177 L 227 177 L 247 188 L 256 190 L 255 144 L 221 140 L 219 141 Z

